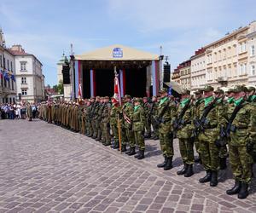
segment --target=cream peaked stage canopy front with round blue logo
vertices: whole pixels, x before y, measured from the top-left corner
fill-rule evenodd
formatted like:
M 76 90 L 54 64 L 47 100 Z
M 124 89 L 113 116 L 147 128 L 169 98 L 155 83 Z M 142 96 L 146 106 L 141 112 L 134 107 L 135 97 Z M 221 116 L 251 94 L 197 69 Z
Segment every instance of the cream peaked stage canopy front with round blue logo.
M 159 60 L 159 55 L 154 55 L 138 49 L 133 49 L 120 44 L 96 49 L 82 55 L 75 55 L 76 60 Z

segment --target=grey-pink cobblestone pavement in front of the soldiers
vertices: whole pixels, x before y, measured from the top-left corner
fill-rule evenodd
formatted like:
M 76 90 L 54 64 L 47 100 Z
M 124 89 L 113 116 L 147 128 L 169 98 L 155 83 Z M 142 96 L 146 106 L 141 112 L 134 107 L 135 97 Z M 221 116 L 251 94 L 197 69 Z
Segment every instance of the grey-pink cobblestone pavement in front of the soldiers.
M 225 194 L 230 171 L 209 187 L 198 182 L 200 165 L 190 178 L 176 175 L 177 141 L 169 171 L 155 166 L 159 141 L 146 143 L 139 161 L 53 124 L 0 120 L 0 212 L 256 212 L 255 180 L 248 198 L 236 199 Z

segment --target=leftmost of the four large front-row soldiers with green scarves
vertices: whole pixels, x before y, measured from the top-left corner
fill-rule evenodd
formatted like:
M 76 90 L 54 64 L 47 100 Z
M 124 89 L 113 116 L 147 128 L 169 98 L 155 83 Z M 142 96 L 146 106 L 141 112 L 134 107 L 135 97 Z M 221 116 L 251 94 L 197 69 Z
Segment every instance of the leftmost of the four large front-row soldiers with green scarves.
M 176 103 L 173 100 L 169 100 L 167 89 L 160 90 L 160 103 L 157 112 L 160 147 L 165 158 L 165 161 L 162 164 L 158 164 L 157 167 L 171 170 L 172 157 L 174 155 L 172 124 L 176 116 Z

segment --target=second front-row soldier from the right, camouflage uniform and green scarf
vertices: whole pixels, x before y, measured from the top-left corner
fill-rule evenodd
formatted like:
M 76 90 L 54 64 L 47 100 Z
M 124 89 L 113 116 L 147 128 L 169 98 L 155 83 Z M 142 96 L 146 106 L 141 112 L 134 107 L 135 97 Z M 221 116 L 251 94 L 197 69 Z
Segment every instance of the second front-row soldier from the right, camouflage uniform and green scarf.
M 200 141 L 201 160 L 204 169 L 207 171 L 207 175 L 201 178 L 201 183 L 210 181 L 211 187 L 218 185 L 218 147 L 216 146 L 216 139 L 219 135 L 218 130 L 218 110 L 216 104 L 213 104 L 212 86 L 206 86 L 204 91 L 204 105 L 199 109 L 199 118 L 203 116 L 208 107 L 212 109 L 207 113 L 205 121 L 201 124 L 203 130 L 200 131 L 198 139 Z

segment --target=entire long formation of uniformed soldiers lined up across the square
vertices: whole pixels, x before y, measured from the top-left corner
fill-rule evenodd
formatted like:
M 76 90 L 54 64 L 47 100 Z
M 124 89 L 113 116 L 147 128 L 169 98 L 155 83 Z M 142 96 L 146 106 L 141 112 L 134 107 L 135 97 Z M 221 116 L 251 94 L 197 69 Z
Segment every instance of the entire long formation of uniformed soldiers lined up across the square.
M 218 171 L 229 158 L 235 183 L 226 191 L 246 199 L 256 163 L 256 94 L 254 87 L 237 85 L 228 91 L 211 86 L 184 90 L 180 99 L 168 95 L 132 98 L 91 97 L 83 101 L 46 101 L 38 117 L 50 124 L 79 132 L 137 159 L 144 158 L 145 140 L 160 140 L 163 170 L 172 169 L 173 140 L 178 139 L 183 159 L 178 176 L 194 175 L 202 164 L 206 175 L 199 182 L 218 185 Z M 136 148 L 137 147 L 137 148 Z M 195 151 L 198 158 L 195 158 Z

